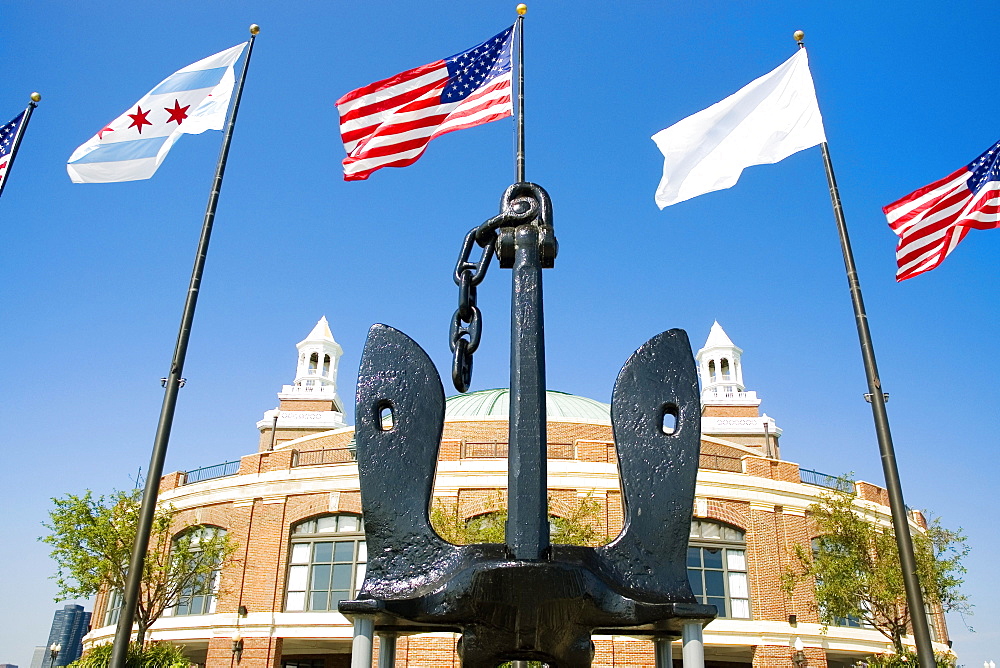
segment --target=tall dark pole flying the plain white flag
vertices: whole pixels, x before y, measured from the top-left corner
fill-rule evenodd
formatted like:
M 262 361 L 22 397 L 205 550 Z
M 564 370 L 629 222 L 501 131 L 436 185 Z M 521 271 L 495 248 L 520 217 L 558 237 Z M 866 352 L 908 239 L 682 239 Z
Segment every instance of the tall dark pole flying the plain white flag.
M 805 44 L 802 43 L 804 36 L 801 30 L 796 31 L 794 35 L 800 49 L 805 48 Z M 886 491 L 889 493 L 892 528 L 896 534 L 896 546 L 899 549 L 899 562 L 903 572 L 903 586 L 906 589 L 906 604 L 910 610 L 913 639 L 917 645 L 917 658 L 922 668 L 934 668 L 936 665 L 934 647 L 931 645 L 924 599 L 921 594 L 920 582 L 917 579 L 917 560 L 913 551 L 913 538 L 910 535 L 906 504 L 903 503 L 903 488 L 899 481 L 896 452 L 892 445 L 892 434 L 889 431 L 889 416 L 885 410 L 886 395 L 883 394 L 882 381 L 879 379 L 878 367 L 875 363 L 875 348 L 872 345 L 871 332 L 868 329 L 868 314 L 865 312 L 864 300 L 861 297 L 861 283 L 858 280 L 858 270 L 854 264 L 851 240 L 847 235 L 847 221 L 844 218 L 844 207 L 840 202 L 837 178 L 833 173 L 830 147 L 824 141 L 820 144 L 820 148 L 823 150 L 826 182 L 830 187 L 830 201 L 833 204 L 833 215 L 837 221 L 837 233 L 840 236 L 840 249 L 844 255 L 844 267 L 847 271 L 847 284 L 851 291 L 851 303 L 854 305 L 854 319 L 857 321 L 858 339 L 861 343 L 861 358 L 864 361 L 865 375 L 868 378 L 868 394 L 865 398 L 871 400 L 872 417 L 875 420 L 875 436 L 878 439 L 879 453 L 882 456 L 882 471 L 885 476 Z

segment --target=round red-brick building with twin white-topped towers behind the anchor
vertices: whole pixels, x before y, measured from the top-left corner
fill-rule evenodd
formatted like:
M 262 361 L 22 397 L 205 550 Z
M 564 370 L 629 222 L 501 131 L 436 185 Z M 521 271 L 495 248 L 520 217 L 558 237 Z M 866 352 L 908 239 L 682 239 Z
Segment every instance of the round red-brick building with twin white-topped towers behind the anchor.
M 354 431 L 336 384 L 342 351 L 325 318 L 297 347 L 295 380 L 257 423 L 256 452 L 161 481 L 161 502 L 179 511 L 178 533 L 214 527 L 239 545 L 211 591 L 186 592 L 152 627 L 154 639 L 184 645 L 209 668 L 350 665 L 351 624 L 336 609 L 360 585 L 366 549 Z M 853 620 L 824 629 L 808 585 L 791 595 L 781 589 L 791 547 L 814 537 L 806 509 L 835 483 L 782 459 L 781 430 L 760 414 L 756 392 L 746 390 L 741 354 L 715 323 L 696 355 L 702 442 L 688 572 L 700 600 L 719 609 L 705 629 L 706 666 L 790 666 L 801 648 L 798 664 L 840 668 L 886 651 L 884 637 Z M 447 401 L 434 495 L 462 520 L 504 502 L 508 399 L 507 390 L 485 390 Z M 550 391 L 548 439 L 551 512 L 567 516 L 581 499 L 591 507 L 596 501 L 589 521 L 614 538 L 622 503 L 610 407 Z M 859 482 L 856 491 L 857 503 L 888 524 L 885 490 Z M 914 513 L 911 524 L 919 530 L 923 517 Z M 114 636 L 116 599 L 98 596 L 88 644 Z M 932 627 L 944 649 L 942 615 L 932 616 Z M 397 665 L 458 666 L 457 639 L 450 633 L 400 638 Z M 654 663 L 648 640 L 594 641 L 594 666 Z

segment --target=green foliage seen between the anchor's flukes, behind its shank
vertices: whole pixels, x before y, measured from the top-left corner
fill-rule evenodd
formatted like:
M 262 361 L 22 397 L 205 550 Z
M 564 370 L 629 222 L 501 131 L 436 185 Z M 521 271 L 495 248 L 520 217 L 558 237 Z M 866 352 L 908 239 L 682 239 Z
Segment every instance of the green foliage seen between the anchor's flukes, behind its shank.
M 503 543 L 507 526 L 507 508 L 497 492 L 492 506 L 499 510 L 465 519 L 459 515 L 455 504 L 445 504 L 436 499 L 431 508 L 431 526 L 450 543 L 472 545 L 475 543 Z M 549 506 L 551 508 L 551 499 Z M 551 541 L 557 545 L 602 544 L 603 536 L 598 533 L 598 514 L 601 505 L 590 495 L 579 499 L 577 505 L 565 517 L 550 514 L 552 527 Z

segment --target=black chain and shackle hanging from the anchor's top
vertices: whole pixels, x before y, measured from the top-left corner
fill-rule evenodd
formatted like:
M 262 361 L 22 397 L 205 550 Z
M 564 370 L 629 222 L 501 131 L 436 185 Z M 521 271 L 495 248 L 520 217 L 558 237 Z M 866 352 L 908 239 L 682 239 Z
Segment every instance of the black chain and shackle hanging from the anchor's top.
M 451 379 L 459 392 L 467 392 L 472 384 L 472 356 L 479 349 L 483 333 L 483 313 L 476 305 L 476 287 L 486 278 L 486 271 L 496 255 L 498 230 L 530 223 L 539 217 L 543 228 L 551 230 L 550 211 L 545 191 L 533 183 L 515 183 L 504 193 L 500 213 L 469 230 L 462 240 L 453 275 L 458 286 L 458 308 L 451 317 L 448 337 L 453 354 Z M 469 258 L 477 245 L 482 248 L 482 254 L 473 262 Z M 554 258 L 555 251 L 550 255 Z M 507 266 L 503 258 L 500 266 Z

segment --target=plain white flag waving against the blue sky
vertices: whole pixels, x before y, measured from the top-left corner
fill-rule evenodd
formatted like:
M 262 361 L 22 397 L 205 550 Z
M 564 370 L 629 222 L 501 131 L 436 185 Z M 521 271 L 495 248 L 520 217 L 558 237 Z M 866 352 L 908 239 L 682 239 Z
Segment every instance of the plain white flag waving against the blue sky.
M 769 165 L 826 141 L 806 50 L 722 102 L 660 130 L 656 189 L 662 209 L 731 188 L 751 165 Z

